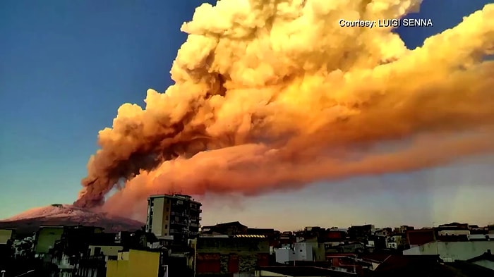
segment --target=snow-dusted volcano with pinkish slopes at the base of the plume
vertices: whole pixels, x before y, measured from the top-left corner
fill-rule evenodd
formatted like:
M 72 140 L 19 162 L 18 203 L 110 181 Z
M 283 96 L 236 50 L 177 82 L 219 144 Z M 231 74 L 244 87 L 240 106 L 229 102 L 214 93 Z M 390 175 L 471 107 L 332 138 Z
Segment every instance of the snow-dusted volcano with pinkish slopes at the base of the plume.
M 16 228 L 19 235 L 37 231 L 40 226 L 97 226 L 105 232 L 139 230 L 144 223 L 130 218 L 91 211 L 70 204 L 52 204 L 29 209 L 0 221 L 0 228 Z

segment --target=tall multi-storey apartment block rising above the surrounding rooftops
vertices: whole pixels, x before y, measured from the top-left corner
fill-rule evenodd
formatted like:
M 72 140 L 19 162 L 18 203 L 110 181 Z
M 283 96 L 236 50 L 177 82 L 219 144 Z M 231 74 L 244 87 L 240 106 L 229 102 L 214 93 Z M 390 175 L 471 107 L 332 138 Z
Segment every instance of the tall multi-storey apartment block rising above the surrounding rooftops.
M 177 243 L 197 238 L 200 207 L 200 202 L 188 195 L 151 195 L 147 199 L 146 232 Z

